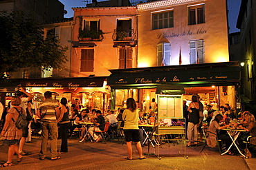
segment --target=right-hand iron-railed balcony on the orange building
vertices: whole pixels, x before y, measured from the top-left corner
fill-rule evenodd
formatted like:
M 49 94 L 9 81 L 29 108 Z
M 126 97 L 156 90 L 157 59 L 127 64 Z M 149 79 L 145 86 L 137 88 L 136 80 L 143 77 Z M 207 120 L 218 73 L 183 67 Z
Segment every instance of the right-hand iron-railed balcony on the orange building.
M 113 41 L 135 41 L 136 40 L 136 32 L 134 29 L 131 30 L 114 30 Z

